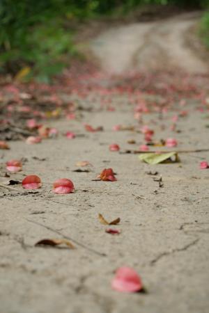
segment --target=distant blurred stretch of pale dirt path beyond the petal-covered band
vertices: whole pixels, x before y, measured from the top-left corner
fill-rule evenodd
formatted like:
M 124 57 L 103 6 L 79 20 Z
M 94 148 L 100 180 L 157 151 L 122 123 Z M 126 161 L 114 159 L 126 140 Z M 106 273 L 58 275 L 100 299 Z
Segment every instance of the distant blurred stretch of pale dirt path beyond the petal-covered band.
M 199 22 L 199 13 L 187 13 L 160 22 L 135 23 L 109 29 L 93 40 L 91 49 L 107 72 L 127 70 L 184 70 L 207 73 L 208 63 L 188 45 L 188 35 Z M 193 47 L 192 47 L 193 46 Z

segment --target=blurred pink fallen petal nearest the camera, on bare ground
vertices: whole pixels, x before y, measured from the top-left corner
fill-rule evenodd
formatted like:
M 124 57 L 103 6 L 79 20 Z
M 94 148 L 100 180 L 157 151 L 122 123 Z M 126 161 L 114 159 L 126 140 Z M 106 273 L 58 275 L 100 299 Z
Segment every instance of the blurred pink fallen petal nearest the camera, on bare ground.
M 137 292 L 143 289 L 141 278 L 137 272 L 127 266 L 118 268 L 111 287 L 121 292 Z

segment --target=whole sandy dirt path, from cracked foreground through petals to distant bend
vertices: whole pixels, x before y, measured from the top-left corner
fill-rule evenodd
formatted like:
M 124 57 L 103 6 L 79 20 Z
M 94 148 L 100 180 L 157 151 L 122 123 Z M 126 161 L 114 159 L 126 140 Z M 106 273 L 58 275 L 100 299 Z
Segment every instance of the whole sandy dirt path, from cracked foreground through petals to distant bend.
M 176 23 L 172 21 L 168 29 Z M 193 23 L 192 19 L 178 24 L 178 31 Z M 94 47 L 104 68 L 108 66 L 113 72 L 130 69 L 132 58 L 139 57 L 136 51 L 146 40 L 152 49 L 144 50 L 140 58 L 144 65 L 146 53 L 153 59 L 157 45 L 153 27 L 130 25 L 101 35 L 106 38 L 105 45 L 100 47 L 96 40 Z M 156 38 L 163 29 L 164 22 L 157 23 Z M 192 51 L 180 49 L 175 42 L 178 31 L 167 37 L 175 43 L 173 49 L 169 46 L 171 59 L 179 57 L 178 63 L 189 69 L 203 70 L 203 63 Z M 146 40 L 136 45 L 140 32 L 141 38 L 147 33 Z M 119 34 L 121 39 L 113 42 Z M 124 40 L 129 45 L 122 49 Z M 163 42 L 157 51 L 164 49 Z M 155 78 L 150 73 L 121 77 L 120 85 L 118 80 L 108 81 L 102 75 L 92 75 L 89 86 L 90 77 L 82 77 L 82 87 L 72 87 L 76 79 L 69 76 L 65 93 L 61 88 L 52 90 L 50 96 L 57 101 L 63 119 L 45 118 L 40 123 L 56 127 L 57 138 L 34 145 L 11 141 L 10 150 L 1 150 L 1 184 L 8 179 L 22 182 L 26 175 L 36 174 L 42 179 L 42 188 L 31 193 L 21 184 L 13 186 L 16 191 L 0 188 L 0 313 L 207 313 L 209 169 L 201 170 L 199 164 L 209 162 L 209 152 L 183 153 L 180 163 L 151 166 L 139 161 L 137 154 L 110 152 L 109 145 L 117 143 L 121 151 L 139 150 L 139 145 L 147 143 L 141 132 L 146 126 L 155 131 L 155 143 L 176 138 L 177 147 L 160 147 L 165 151 L 209 148 L 208 83 L 203 83 L 202 77 L 189 83 L 187 77 L 164 77 L 162 73 Z M 104 86 L 104 78 L 110 87 Z M 47 88 L 42 88 L 45 95 Z M 15 89 L 8 86 L 8 90 L 12 93 Z M 13 101 L 8 102 L 8 117 L 17 109 L 25 112 L 26 119 L 30 102 L 23 91 L 16 90 Z M 19 101 L 19 95 L 24 101 Z M 72 104 L 75 119 L 67 120 L 66 108 L 72 109 Z M 84 124 L 104 130 L 88 132 Z M 114 131 L 115 125 L 126 129 Z M 73 131 L 76 137 L 66 138 L 66 131 Z M 22 172 L 5 177 L 6 161 L 22 158 Z M 75 172 L 78 161 L 89 161 L 92 166 L 82 168 L 86 172 Z M 113 168 L 116 182 L 95 181 L 104 168 Z M 53 182 L 62 177 L 72 179 L 75 193 L 52 192 Z M 107 234 L 99 213 L 107 220 L 120 217 L 115 228 L 121 234 Z M 77 243 L 75 250 L 35 247 L 40 239 L 62 237 L 36 223 L 52 227 L 98 253 Z M 111 289 L 114 271 L 120 266 L 134 268 L 148 294 L 122 294 Z

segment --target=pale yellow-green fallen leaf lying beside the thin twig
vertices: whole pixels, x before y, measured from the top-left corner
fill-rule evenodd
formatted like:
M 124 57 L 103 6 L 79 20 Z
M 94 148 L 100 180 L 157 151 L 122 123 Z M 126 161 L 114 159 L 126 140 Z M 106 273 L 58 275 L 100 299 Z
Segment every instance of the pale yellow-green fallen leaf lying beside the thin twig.
M 139 160 L 148 164 L 158 164 L 163 162 L 174 163 L 180 161 L 177 152 L 166 153 L 142 153 L 139 155 Z

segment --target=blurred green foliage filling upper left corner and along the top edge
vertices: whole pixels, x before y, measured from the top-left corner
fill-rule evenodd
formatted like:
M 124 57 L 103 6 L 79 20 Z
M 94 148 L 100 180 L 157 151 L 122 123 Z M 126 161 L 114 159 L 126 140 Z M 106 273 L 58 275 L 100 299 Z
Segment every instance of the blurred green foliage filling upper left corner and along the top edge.
M 144 4 L 200 8 L 209 0 L 1 0 L 0 72 L 16 74 L 29 66 L 27 79 L 47 81 L 61 71 L 66 56 L 77 54 L 69 22 L 109 15 L 116 10 L 123 14 Z M 201 28 L 206 34 L 209 14 L 203 18 Z

